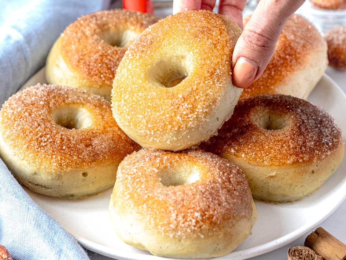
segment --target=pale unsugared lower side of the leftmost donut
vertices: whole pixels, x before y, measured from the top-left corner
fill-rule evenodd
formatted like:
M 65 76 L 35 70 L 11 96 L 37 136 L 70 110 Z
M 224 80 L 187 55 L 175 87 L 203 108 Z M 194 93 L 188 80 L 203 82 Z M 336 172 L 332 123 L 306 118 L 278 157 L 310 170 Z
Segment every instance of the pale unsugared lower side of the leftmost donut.
M 47 172 L 21 160 L 2 138 L 0 156 L 16 179 L 31 191 L 63 199 L 82 199 L 113 186 L 119 163 Z

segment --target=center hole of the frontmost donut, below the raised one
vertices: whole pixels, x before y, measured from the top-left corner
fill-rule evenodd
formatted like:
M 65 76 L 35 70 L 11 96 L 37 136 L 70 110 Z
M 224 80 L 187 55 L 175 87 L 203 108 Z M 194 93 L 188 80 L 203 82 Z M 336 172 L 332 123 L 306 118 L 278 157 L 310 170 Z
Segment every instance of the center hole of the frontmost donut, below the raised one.
M 179 186 L 194 183 L 200 179 L 199 171 L 194 168 L 173 168 L 161 172 L 160 182 L 168 186 Z

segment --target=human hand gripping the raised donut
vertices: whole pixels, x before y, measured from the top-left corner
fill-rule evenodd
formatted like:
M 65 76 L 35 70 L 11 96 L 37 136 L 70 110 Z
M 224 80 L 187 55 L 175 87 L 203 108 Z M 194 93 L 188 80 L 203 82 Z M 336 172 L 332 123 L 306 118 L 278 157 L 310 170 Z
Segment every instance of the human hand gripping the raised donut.
M 261 0 L 235 46 L 233 85 L 247 88 L 257 80 L 271 60 L 276 42 L 288 18 L 305 0 Z M 220 0 L 219 13 L 243 28 L 246 0 Z M 215 0 L 174 0 L 173 13 L 205 9 L 212 11 Z

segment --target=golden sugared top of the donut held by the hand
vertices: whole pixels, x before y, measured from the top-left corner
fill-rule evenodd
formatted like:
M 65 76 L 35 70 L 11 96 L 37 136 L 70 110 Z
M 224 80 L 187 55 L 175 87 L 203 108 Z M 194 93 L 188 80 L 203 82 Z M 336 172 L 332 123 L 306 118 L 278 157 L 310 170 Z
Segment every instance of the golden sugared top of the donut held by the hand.
M 231 83 L 232 54 L 240 33 L 230 18 L 206 10 L 180 12 L 147 28 L 128 48 L 113 82 L 117 122 L 154 140 L 155 135 L 208 122 Z M 176 57 L 184 57 L 187 77 L 175 87 L 160 86 L 153 80 L 157 66 Z

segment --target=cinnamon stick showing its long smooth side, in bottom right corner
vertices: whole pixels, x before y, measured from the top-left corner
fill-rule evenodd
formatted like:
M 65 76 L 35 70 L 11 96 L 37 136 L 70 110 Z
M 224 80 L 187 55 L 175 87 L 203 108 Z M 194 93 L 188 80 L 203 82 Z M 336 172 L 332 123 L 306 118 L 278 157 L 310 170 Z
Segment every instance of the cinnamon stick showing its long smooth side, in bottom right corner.
M 304 245 L 325 260 L 346 260 L 346 245 L 323 228 L 318 228 L 308 235 Z

